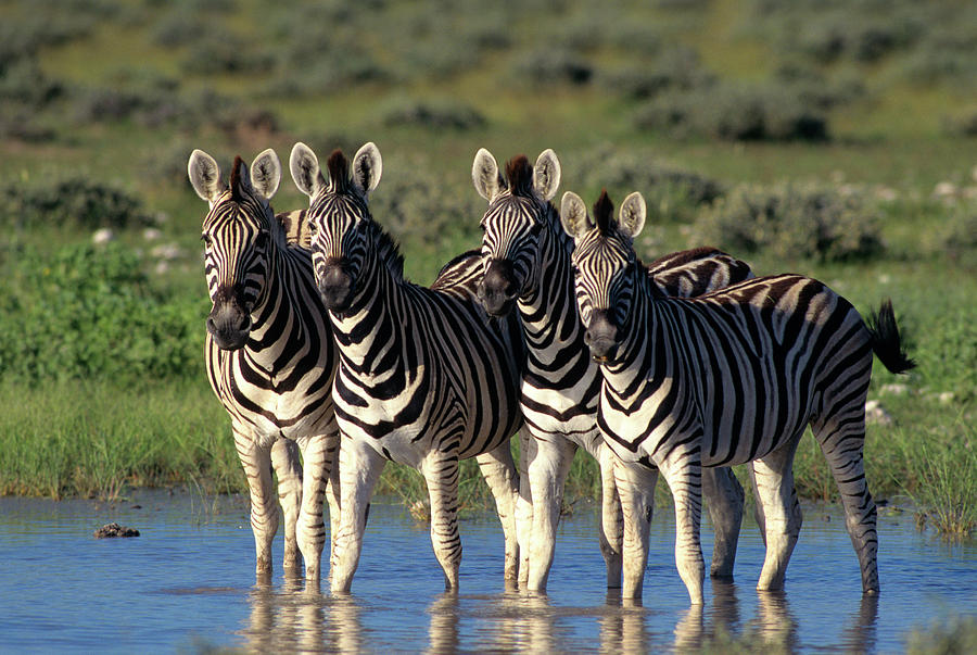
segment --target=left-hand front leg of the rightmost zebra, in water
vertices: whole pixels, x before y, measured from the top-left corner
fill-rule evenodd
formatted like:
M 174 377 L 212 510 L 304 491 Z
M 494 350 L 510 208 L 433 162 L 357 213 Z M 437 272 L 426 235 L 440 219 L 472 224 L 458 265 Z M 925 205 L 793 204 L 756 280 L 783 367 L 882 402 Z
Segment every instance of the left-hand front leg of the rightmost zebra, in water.
M 614 461 L 614 481 L 621 494 L 621 512 L 624 515 L 624 543 L 622 547 L 624 587 L 621 596 L 640 599 L 645 584 L 645 567 L 648 564 L 648 530 L 655 511 L 655 484 L 658 469 L 640 464 Z

